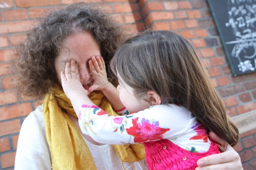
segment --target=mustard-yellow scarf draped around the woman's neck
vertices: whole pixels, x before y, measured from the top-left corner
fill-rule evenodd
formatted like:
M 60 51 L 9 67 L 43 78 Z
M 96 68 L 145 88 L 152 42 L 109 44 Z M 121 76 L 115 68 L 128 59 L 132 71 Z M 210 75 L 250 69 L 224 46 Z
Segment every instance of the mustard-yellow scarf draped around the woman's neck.
M 109 115 L 117 115 L 101 91 L 93 92 L 90 99 Z M 70 100 L 62 88 L 56 85 L 44 97 L 44 122 L 47 142 L 50 146 L 53 170 L 96 170 L 91 152 L 69 115 L 77 118 Z M 140 161 L 145 157 L 144 146 L 113 145 L 121 161 Z

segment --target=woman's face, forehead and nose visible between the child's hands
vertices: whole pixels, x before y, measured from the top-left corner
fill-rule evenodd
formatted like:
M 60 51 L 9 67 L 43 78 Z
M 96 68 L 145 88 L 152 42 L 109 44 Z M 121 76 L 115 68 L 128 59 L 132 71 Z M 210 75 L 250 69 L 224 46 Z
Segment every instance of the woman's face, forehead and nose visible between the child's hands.
M 75 60 L 78 65 L 80 81 L 87 90 L 93 84 L 88 62 L 92 56 L 101 56 L 100 47 L 89 32 L 78 32 L 69 36 L 62 44 L 59 56 L 54 65 L 59 82 L 60 72 L 64 71 L 67 62 Z

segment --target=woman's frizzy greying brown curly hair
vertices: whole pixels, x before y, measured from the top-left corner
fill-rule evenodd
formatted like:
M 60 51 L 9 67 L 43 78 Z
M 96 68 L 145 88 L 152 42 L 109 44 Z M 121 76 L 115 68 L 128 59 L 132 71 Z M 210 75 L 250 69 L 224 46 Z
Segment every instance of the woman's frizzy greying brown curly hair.
M 21 94 L 43 97 L 58 82 L 54 61 L 62 43 L 81 31 L 89 31 L 94 36 L 106 67 L 124 39 L 118 24 L 96 5 L 78 3 L 50 12 L 37 27 L 28 31 L 25 42 L 17 46 L 16 82 Z M 108 67 L 106 70 L 109 71 Z

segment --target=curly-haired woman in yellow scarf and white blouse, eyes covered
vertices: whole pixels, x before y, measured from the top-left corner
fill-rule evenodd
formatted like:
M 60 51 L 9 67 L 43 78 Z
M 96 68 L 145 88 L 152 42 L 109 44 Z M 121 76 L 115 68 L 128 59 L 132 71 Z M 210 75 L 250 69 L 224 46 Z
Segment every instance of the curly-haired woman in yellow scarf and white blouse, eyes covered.
M 93 6 L 79 3 L 51 12 L 28 33 L 16 60 L 20 92 L 45 97 L 43 105 L 31 112 L 22 124 L 16 169 L 147 169 L 142 145 L 102 145 L 83 135 L 60 86 L 60 72 L 64 71 L 66 62 L 75 60 L 82 85 L 90 88 L 94 80 L 88 61 L 92 56 L 103 56 L 107 66 L 123 40 L 116 25 Z M 110 73 L 108 76 L 115 83 Z M 100 91 L 89 97 L 106 112 L 116 114 Z M 198 164 L 241 169 L 234 149 L 225 141 L 219 144 L 227 146 L 227 151 L 203 158 Z M 225 156 L 229 159 L 223 161 Z

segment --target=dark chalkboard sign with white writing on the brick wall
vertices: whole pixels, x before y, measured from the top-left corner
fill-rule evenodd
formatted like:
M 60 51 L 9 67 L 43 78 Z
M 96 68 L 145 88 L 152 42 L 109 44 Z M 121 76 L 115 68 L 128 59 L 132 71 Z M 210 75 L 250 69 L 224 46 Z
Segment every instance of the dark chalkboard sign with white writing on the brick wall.
M 256 72 L 256 0 L 208 0 L 234 76 Z

